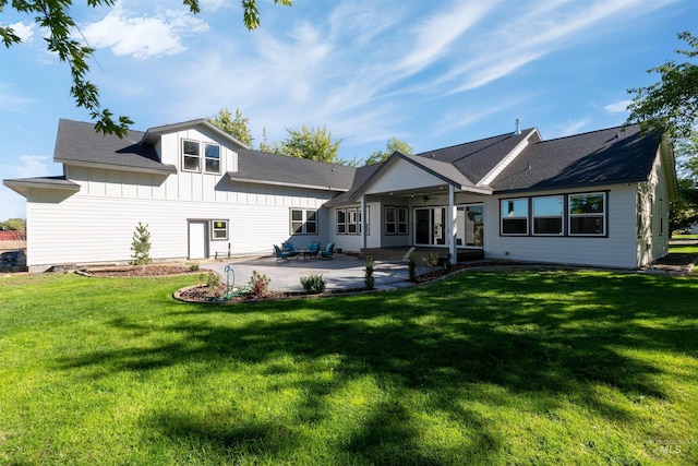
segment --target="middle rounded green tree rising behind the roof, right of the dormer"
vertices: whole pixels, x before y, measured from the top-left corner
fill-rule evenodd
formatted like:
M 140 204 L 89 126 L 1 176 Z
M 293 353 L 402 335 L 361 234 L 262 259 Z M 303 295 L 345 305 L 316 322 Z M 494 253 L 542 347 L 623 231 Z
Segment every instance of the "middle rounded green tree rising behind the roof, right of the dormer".
M 337 156 L 341 140 L 332 140 L 327 127 L 308 129 L 305 124 L 299 130 L 287 128 L 288 139 L 280 144 L 274 143 L 274 152 L 291 157 L 309 158 L 311 160 L 342 164 Z

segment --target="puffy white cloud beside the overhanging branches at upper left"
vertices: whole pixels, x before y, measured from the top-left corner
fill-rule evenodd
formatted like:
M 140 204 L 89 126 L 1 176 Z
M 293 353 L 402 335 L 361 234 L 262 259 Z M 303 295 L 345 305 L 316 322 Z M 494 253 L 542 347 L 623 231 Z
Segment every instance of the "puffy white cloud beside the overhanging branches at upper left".
M 96 23 L 82 33 L 95 48 L 108 47 L 117 56 L 144 59 L 184 51 L 183 39 L 208 29 L 208 24 L 185 10 L 166 10 L 154 16 L 134 16 L 119 1 Z

